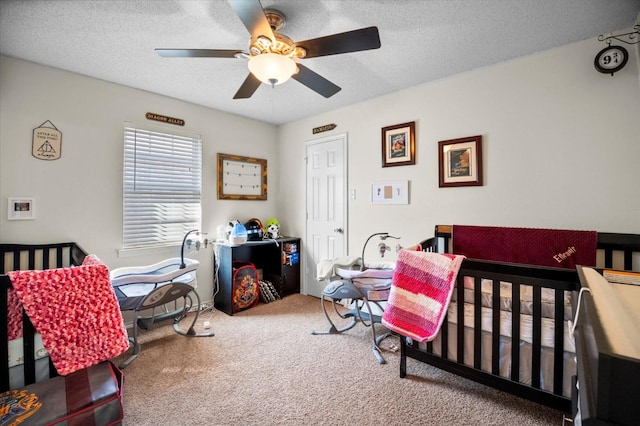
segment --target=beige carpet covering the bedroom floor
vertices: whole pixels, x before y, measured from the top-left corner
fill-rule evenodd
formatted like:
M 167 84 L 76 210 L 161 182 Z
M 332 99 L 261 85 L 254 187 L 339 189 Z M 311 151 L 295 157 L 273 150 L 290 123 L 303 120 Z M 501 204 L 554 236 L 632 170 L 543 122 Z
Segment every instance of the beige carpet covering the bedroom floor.
M 397 338 L 383 342 L 380 365 L 362 324 L 312 335 L 328 328 L 314 297 L 234 316 L 206 311 L 203 321 L 214 337 L 180 336 L 170 322 L 142 332 L 142 352 L 124 370 L 125 425 L 562 423 L 560 412 L 414 360 L 401 379 Z

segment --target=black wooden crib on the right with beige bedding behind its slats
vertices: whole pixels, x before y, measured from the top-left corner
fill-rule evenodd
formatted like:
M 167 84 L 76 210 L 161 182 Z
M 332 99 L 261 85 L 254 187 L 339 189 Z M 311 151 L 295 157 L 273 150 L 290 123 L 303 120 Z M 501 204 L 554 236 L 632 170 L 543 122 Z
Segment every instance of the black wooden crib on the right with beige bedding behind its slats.
M 421 245 L 450 253 L 451 242 L 452 227 L 437 226 Z M 597 249 L 599 267 L 640 269 L 640 235 L 598 233 Z M 401 338 L 400 377 L 410 358 L 571 413 L 571 302 L 579 288 L 575 269 L 467 258 L 438 336 L 426 343 Z

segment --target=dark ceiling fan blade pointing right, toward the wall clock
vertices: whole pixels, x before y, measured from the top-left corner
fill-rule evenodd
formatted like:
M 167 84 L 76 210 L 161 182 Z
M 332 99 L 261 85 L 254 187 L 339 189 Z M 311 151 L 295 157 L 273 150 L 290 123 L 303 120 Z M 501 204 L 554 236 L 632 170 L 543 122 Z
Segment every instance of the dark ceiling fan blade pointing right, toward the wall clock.
M 296 43 L 296 46 L 304 47 L 307 51 L 305 58 L 316 58 L 318 56 L 377 49 L 380 47 L 380 35 L 377 27 L 367 27 L 300 41 Z

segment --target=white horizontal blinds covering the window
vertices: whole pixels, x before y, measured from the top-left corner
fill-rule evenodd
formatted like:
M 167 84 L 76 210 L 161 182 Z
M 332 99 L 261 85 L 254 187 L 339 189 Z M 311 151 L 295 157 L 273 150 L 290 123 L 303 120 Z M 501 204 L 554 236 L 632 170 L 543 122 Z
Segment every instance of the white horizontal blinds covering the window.
M 202 140 L 124 128 L 123 248 L 182 242 L 200 229 Z

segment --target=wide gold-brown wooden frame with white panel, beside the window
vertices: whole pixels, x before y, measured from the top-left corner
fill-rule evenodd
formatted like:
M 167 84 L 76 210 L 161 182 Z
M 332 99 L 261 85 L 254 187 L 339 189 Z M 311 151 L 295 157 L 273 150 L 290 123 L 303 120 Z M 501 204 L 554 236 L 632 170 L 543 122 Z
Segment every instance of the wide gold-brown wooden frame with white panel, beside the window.
M 218 153 L 218 200 L 266 200 L 267 160 Z

